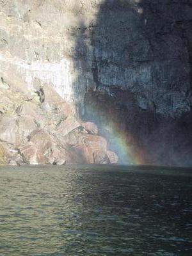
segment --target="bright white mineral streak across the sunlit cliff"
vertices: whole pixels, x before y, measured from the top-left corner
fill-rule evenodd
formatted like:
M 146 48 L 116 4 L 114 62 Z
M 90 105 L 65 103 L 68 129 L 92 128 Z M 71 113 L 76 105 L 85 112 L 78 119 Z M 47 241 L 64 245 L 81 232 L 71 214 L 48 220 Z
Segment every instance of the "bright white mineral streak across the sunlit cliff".
M 58 92 L 63 99 L 67 101 L 72 100 L 73 80 L 75 76 L 70 70 L 72 63 L 69 60 L 63 58 L 63 60 L 58 63 L 32 61 L 28 64 L 17 58 L 8 58 L 0 54 L 0 61 L 5 65 L 12 65 L 12 67 L 24 77 L 28 88 L 33 89 L 34 80 L 38 78 L 42 83 L 52 83 L 56 92 Z

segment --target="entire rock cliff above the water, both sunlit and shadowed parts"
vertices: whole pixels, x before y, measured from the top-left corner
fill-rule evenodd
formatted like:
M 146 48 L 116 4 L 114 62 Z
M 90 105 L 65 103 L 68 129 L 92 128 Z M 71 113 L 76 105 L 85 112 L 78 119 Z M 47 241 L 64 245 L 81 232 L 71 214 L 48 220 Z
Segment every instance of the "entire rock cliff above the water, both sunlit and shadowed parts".
M 191 0 L 1 0 L 2 161 L 191 165 L 191 20 Z

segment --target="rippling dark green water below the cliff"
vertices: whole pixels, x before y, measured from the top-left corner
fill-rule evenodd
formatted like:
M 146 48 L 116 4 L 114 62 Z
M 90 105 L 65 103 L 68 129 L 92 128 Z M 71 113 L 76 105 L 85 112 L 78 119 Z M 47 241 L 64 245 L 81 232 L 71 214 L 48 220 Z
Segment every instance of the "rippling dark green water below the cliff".
M 191 256 L 191 192 L 192 170 L 1 167 L 0 255 Z

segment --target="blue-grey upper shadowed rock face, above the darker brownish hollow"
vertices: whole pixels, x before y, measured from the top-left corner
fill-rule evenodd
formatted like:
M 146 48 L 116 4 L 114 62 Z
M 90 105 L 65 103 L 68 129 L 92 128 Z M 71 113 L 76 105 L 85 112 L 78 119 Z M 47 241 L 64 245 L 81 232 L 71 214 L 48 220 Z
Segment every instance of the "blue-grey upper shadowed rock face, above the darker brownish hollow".
M 76 35 L 87 89 L 128 90 L 141 109 L 163 115 L 188 112 L 191 13 L 191 1 L 103 1 L 92 27 L 81 24 Z

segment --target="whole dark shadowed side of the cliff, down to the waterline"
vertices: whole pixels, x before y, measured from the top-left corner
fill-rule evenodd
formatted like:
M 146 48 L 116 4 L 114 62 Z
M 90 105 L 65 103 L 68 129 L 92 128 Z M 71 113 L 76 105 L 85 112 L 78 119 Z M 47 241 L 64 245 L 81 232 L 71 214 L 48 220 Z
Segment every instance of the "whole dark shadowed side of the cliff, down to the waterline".
M 191 165 L 192 1 L 106 0 L 90 36 L 84 118 L 118 152 L 115 126 L 141 163 Z

